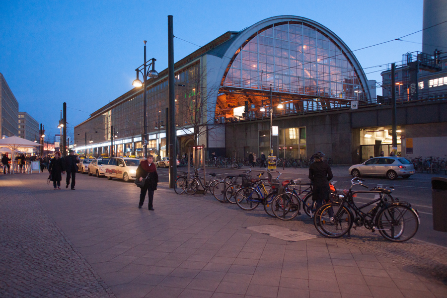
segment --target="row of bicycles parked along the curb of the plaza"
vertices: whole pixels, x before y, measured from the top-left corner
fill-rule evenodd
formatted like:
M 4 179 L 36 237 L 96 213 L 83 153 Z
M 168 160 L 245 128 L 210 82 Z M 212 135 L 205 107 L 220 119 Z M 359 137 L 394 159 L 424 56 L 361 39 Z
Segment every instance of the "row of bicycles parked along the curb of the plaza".
M 267 215 L 282 221 L 293 220 L 304 213 L 313 219 L 320 234 L 331 238 L 364 226 L 372 232 L 379 231 L 387 240 L 403 242 L 412 238 L 418 230 L 418 211 L 410 203 L 394 198 L 391 195 L 393 186 L 355 190 L 353 188 L 357 186 L 368 186 L 364 185 L 364 180 L 353 178 L 349 189 L 338 191 L 331 185 L 331 198 L 322 206 L 317 206 L 316 201 L 312 200 L 310 181 L 280 181 L 280 172 L 276 171 L 276 178 L 272 174 L 268 169 L 254 178 L 251 169 L 225 177 L 211 173 L 209 181 L 204 183 L 199 170 L 195 169 L 190 177 L 186 172 L 178 176 L 174 190 L 177 194 L 194 195 L 201 186 L 205 194 L 210 192 L 221 203 L 234 204 L 245 211 L 262 206 Z M 370 194 L 374 199 L 365 204 L 356 203 L 354 198 L 359 194 Z

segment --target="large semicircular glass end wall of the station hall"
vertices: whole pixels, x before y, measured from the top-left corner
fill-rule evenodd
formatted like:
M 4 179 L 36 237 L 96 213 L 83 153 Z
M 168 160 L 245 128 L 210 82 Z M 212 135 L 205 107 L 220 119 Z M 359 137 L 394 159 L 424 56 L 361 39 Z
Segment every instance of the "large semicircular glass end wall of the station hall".
M 312 97 L 332 99 L 327 105 L 333 107 L 336 100 L 364 100 L 365 96 L 346 53 L 327 34 L 302 22 L 258 31 L 236 51 L 224 79 L 224 87 L 229 88 L 269 90 L 270 85 L 274 92 L 285 93 L 281 114 L 317 109 Z

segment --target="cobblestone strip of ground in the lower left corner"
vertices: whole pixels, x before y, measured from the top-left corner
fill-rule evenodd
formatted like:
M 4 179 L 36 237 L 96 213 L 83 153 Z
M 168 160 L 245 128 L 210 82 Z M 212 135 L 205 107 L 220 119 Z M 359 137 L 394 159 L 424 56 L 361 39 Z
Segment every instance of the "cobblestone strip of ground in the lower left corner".
M 0 178 L 0 297 L 115 297 L 12 177 Z

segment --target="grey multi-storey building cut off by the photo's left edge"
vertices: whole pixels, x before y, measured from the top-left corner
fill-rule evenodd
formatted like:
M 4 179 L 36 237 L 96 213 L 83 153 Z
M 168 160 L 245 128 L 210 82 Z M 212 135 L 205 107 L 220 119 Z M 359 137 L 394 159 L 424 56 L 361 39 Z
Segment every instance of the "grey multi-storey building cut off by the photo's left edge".
M 1 123 L 0 131 L 3 137 L 12 137 L 18 135 L 18 101 L 12 94 L 11 89 L 0 73 L 0 113 Z M 34 141 L 34 140 L 33 140 Z

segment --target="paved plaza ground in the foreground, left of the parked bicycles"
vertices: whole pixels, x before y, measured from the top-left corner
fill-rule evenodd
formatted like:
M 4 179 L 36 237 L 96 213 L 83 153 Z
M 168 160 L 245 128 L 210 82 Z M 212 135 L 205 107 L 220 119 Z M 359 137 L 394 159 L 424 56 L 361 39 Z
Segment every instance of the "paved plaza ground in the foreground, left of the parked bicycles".
M 0 297 L 447 297 L 445 247 L 364 228 L 323 238 L 305 216 L 282 222 L 165 183 L 149 211 L 132 183 L 78 174 L 75 191 L 54 191 L 46 177 L 0 175 Z

